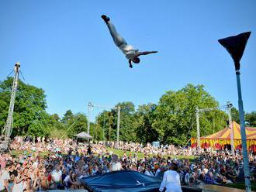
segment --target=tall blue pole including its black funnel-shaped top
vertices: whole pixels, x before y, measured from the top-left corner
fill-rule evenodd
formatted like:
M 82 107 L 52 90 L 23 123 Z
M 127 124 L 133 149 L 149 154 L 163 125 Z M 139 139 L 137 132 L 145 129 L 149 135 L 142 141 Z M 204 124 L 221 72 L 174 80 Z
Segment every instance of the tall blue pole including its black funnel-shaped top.
M 245 133 L 245 123 L 244 123 L 244 105 L 241 94 L 240 86 L 240 59 L 243 56 L 244 49 L 249 39 L 251 32 L 240 33 L 237 36 L 230 36 L 224 39 L 219 39 L 219 43 L 225 47 L 230 53 L 230 56 L 234 60 L 236 75 L 237 75 L 237 92 L 238 92 L 238 107 L 239 107 L 239 119 L 240 119 L 240 132 L 242 136 L 242 147 L 243 147 L 243 158 L 244 158 L 244 180 L 246 191 L 251 191 L 251 181 L 250 181 L 250 170 L 249 170 L 249 160 L 247 154 L 247 143 L 246 143 L 246 133 Z

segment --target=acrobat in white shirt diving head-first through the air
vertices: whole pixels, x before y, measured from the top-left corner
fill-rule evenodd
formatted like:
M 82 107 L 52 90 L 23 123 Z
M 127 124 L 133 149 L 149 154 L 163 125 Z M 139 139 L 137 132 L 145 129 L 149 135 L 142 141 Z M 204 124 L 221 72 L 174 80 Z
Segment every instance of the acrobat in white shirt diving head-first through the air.
M 126 58 L 129 60 L 129 67 L 133 68 L 133 63 L 140 63 L 140 56 L 141 55 L 148 55 L 150 53 L 157 53 L 157 51 L 143 51 L 140 52 L 139 50 L 135 50 L 133 46 L 126 43 L 126 40 L 123 39 L 122 36 L 119 35 L 119 33 L 116 32 L 115 26 L 110 22 L 110 18 L 106 15 L 102 15 L 102 19 L 104 22 L 106 22 L 106 25 L 109 28 L 109 32 L 112 36 L 112 39 L 114 40 L 114 43 L 120 50 L 123 51 L 123 53 L 126 55 Z

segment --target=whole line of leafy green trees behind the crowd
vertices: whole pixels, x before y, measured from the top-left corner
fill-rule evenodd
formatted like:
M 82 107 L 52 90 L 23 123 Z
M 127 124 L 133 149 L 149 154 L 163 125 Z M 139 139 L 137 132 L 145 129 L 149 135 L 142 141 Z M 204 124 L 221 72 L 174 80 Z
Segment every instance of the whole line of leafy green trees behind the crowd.
M 0 127 L 8 115 L 12 78 L 0 82 Z M 135 105 L 130 101 L 119 102 L 109 111 L 102 111 L 95 123 L 90 123 L 90 135 L 95 140 L 116 141 L 117 107 L 121 107 L 119 140 L 126 142 L 173 143 L 185 145 L 196 136 L 195 108 L 216 108 L 219 103 L 203 85 L 187 84 L 178 91 L 167 91 L 157 104 Z M 88 119 L 83 113 L 74 114 L 71 109 L 59 115 L 46 111 L 47 101 L 43 89 L 19 81 L 14 108 L 12 135 L 74 137 L 87 132 Z M 239 122 L 239 112 L 232 108 L 234 121 Z M 201 135 L 209 135 L 227 125 L 227 114 L 213 110 L 200 113 Z M 256 112 L 245 115 L 247 126 L 256 125 Z

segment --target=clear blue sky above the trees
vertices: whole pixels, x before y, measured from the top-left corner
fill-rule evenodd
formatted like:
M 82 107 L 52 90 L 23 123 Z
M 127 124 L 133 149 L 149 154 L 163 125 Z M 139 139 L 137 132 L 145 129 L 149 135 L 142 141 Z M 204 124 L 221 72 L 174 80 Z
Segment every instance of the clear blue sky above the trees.
M 217 39 L 251 31 L 241 60 L 244 110 L 256 110 L 256 1 L 0 1 L 0 80 L 21 63 L 27 84 L 42 87 L 47 111 L 86 112 L 88 101 L 157 103 L 165 91 L 204 84 L 237 107 L 234 64 Z M 130 69 L 102 14 L 140 50 Z

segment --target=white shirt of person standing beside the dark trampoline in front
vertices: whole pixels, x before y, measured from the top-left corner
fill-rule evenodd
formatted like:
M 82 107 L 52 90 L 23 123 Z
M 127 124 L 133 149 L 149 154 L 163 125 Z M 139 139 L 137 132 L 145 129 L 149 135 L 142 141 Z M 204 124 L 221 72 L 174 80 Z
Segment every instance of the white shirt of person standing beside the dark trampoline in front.
M 174 170 L 167 170 L 164 172 L 164 178 L 162 180 L 160 191 L 166 188 L 166 192 L 182 192 L 181 180 L 179 174 Z

